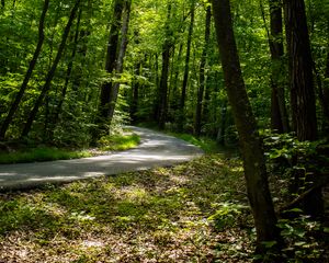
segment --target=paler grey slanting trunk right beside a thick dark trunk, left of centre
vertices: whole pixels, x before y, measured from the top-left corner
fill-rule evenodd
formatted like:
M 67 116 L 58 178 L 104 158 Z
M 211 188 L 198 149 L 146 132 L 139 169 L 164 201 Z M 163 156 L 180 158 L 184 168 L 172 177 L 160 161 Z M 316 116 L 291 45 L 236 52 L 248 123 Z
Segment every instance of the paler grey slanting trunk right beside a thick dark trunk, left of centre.
M 115 64 L 115 73 L 117 77 L 123 72 L 123 64 L 124 64 L 124 57 L 127 49 L 128 44 L 128 28 L 129 28 L 129 19 L 131 19 L 131 0 L 125 0 L 125 10 L 124 10 L 124 19 L 122 24 L 122 39 L 120 45 L 120 50 L 117 55 L 117 60 Z M 120 89 L 120 82 L 115 82 L 112 84 L 112 89 L 110 91 L 110 105 L 109 105 L 109 125 L 111 125 L 111 122 L 114 116 L 114 110 L 116 105 L 116 100 L 118 95 L 118 89 Z

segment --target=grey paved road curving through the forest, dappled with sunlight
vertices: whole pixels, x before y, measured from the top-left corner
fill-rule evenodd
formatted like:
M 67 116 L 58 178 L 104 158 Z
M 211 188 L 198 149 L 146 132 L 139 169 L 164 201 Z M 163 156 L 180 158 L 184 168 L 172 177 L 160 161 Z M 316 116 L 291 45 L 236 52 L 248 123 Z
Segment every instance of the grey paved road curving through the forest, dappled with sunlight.
M 174 137 L 146 128 L 132 128 L 140 136 L 141 144 L 127 151 L 75 160 L 0 164 L 0 191 L 167 167 L 203 155 L 200 148 Z

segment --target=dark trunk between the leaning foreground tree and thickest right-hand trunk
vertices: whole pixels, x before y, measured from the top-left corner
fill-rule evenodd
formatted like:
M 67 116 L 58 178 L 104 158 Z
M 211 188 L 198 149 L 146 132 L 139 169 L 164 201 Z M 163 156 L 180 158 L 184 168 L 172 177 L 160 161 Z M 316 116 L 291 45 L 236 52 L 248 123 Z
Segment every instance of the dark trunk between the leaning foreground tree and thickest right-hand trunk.
M 272 58 L 272 103 L 271 127 L 279 133 L 288 132 L 288 116 L 284 95 L 284 70 L 283 70 L 283 18 L 282 0 L 270 0 L 271 32 L 269 37 Z

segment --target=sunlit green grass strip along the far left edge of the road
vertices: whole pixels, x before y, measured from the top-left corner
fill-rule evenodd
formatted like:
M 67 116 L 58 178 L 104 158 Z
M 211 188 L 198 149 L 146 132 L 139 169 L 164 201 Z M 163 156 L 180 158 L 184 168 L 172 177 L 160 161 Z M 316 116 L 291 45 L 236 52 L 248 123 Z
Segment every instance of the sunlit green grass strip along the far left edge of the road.
M 138 144 L 139 137 L 133 134 L 103 137 L 100 140 L 99 150 L 68 150 L 55 147 L 27 148 L 24 150 L 18 149 L 12 152 L 0 153 L 0 164 L 78 159 L 102 155 L 104 151 L 110 150 L 127 150 L 136 147 Z

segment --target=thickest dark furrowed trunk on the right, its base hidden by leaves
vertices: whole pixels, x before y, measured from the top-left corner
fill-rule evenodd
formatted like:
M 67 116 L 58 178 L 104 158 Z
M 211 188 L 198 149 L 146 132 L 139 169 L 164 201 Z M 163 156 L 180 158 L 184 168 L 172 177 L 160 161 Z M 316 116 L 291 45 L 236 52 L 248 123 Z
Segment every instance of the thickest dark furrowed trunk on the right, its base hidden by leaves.
M 293 129 L 300 141 L 317 139 L 313 59 L 304 0 L 284 0 Z M 311 179 L 308 179 L 311 181 Z M 321 190 L 308 195 L 305 213 L 321 216 Z

